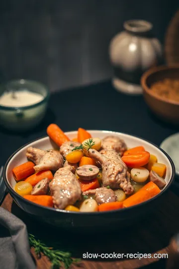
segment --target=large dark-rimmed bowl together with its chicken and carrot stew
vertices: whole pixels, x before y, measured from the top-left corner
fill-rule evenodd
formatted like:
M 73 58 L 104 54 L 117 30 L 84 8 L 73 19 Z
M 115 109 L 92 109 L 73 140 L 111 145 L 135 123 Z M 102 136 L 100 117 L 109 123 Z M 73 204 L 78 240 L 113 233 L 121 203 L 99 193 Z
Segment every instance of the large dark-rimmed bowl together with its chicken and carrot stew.
M 157 210 L 175 166 L 153 143 L 111 131 L 63 133 L 17 149 L 3 179 L 16 204 L 31 216 L 66 229 L 107 230 Z

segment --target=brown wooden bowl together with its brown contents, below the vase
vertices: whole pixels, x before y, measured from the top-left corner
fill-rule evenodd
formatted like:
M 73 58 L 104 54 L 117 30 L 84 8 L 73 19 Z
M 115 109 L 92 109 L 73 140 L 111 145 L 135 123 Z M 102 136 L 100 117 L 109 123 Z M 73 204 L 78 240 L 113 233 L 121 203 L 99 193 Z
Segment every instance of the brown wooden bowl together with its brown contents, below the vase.
M 141 78 L 144 99 L 162 120 L 179 124 L 179 65 L 149 69 Z

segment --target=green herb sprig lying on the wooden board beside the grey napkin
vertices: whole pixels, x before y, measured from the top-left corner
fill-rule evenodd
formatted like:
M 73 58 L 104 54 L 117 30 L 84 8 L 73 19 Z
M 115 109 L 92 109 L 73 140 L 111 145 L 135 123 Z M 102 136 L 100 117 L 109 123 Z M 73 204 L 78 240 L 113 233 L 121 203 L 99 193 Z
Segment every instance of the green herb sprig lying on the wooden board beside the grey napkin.
M 69 269 L 72 263 L 79 262 L 79 259 L 73 259 L 71 253 L 63 252 L 59 250 L 54 250 L 53 248 L 48 248 L 40 240 L 36 240 L 35 237 L 31 234 L 28 235 L 30 247 L 33 247 L 35 254 L 39 259 L 41 254 L 46 256 L 49 261 L 52 263 L 52 269 L 59 269 L 64 264 L 65 269 Z

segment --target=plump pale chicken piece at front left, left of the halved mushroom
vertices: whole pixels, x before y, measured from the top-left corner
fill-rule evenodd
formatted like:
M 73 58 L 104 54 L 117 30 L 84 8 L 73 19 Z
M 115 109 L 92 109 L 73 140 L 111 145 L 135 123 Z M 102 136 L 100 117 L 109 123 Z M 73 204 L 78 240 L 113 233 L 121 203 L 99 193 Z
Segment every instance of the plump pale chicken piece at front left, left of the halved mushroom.
M 64 209 L 81 199 L 80 183 L 74 175 L 75 168 L 65 162 L 63 168 L 58 169 L 54 179 L 50 182 L 50 192 L 55 208 Z

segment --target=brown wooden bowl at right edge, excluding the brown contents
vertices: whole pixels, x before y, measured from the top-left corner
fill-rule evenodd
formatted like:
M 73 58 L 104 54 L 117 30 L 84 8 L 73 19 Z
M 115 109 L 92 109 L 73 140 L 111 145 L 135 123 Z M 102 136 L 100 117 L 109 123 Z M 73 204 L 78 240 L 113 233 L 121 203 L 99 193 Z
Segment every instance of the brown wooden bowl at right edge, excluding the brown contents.
M 158 96 L 150 89 L 153 83 L 166 78 L 179 79 L 179 64 L 158 66 L 145 72 L 141 78 L 144 99 L 149 108 L 159 118 L 166 122 L 179 125 L 179 102 Z

